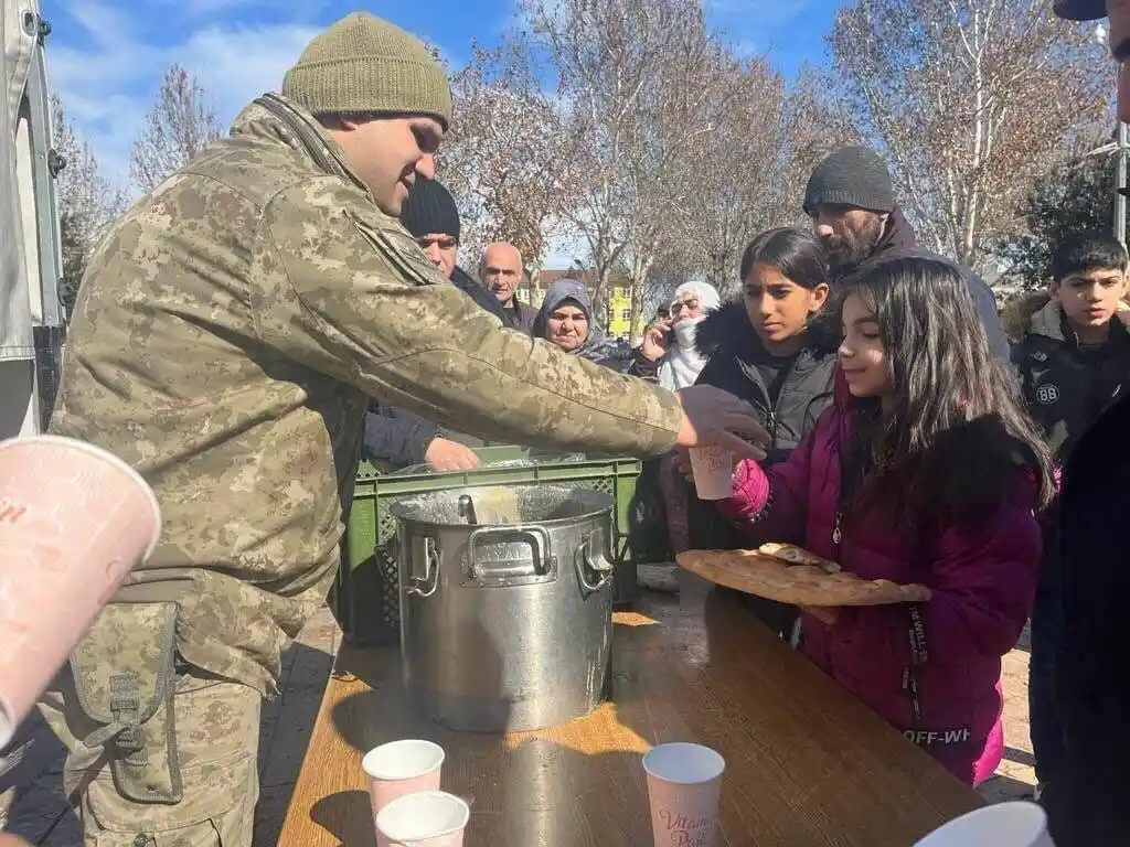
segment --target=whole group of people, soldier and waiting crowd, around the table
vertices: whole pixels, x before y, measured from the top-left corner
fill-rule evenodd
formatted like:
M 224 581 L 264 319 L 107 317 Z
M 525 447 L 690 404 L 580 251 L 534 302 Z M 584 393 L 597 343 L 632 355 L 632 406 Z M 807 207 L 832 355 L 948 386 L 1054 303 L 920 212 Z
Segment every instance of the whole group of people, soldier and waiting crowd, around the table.
M 444 470 L 484 438 L 652 460 L 677 548 L 791 541 L 929 586 L 750 613 L 970 785 L 1000 761 L 1001 656 L 1034 615 L 1057 842 L 1130 840 L 1119 242 L 1059 245 L 1010 350 L 988 286 L 916 246 L 880 156 L 842 148 L 798 204 L 811 227 L 750 234 L 740 297 L 688 281 L 614 355 L 577 280 L 533 309 L 513 245 L 460 268 L 451 119 L 426 47 L 353 14 L 92 257 L 51 428 L 138 468 L 165 527 L 42 704 L 86 842 L 251 844 L 261 698 L 324 602 L 363 446 Z M 732 451 L 729 498 L 695 497 L 701 445 Z

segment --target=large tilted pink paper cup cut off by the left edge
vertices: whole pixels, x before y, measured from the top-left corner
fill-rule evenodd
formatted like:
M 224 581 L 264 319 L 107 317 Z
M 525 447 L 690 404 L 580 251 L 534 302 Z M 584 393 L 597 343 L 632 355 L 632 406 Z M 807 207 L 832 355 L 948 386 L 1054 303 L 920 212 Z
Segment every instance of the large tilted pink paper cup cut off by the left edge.
M 0 443 L 0 750 L 159 535 L 157 498 L 113 454 L 56 436 Z

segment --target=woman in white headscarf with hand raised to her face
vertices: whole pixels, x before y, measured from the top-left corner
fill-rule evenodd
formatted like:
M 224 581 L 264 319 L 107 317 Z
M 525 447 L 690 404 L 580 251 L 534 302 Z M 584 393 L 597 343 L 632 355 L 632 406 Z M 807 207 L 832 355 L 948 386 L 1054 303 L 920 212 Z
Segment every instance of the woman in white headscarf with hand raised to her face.
M 706 313 L 716 309 L 721 298 L 707 282 L 684 282 L 671 297 L 671 325 L 652 326 L 643 343 L 633 350 L 628 373 L 645 379 L 658 379 L 670 391 L 694 385 L 698 372 L 706 365 L 695 349 L 695 334 Z

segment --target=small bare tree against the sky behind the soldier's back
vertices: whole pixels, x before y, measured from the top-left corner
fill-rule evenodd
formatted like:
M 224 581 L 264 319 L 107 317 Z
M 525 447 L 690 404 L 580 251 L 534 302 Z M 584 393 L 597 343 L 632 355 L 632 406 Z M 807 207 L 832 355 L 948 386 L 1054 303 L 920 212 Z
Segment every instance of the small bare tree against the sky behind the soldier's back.
M 203 87 L 179 64 L 165 70 L 145 125 L 133 140 L 130 176 L 149 192 L 194 159 L 223 128 Z

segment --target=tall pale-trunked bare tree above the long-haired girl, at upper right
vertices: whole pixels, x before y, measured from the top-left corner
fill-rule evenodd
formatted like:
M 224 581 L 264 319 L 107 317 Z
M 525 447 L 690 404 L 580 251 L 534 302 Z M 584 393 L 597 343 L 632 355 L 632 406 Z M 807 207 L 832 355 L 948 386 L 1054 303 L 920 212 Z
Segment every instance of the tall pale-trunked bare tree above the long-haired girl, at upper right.
M 971 264 L 1072 130 L 1107 110 L 1099 47 L 1045 0 L 857 0 L 829 42 L 920 236 Z

